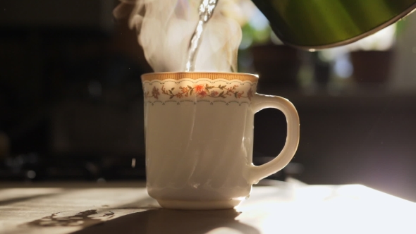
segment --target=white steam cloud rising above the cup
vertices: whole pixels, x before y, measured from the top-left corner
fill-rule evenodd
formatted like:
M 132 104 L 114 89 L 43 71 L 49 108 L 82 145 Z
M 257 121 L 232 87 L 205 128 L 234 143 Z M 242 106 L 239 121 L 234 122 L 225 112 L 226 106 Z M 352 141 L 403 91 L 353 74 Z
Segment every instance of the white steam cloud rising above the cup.
M 204 28 L 195 71 L 237 70 L 241 27 L 226 10 L 233 0 L 219 0 Z M 147 62 L 155 72 L 183 71 L 190 39 L 200 19 L 201 0 L 121 0 L 116 18 L 129 17 Z

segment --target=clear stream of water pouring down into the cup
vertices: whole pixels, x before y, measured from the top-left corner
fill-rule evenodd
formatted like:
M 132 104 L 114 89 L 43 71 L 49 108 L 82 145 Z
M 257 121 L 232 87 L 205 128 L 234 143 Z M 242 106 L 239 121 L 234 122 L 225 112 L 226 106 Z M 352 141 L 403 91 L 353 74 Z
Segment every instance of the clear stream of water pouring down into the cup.
M 188 59 L 185 67 L 185 71 L 187 72 L 195 70 L 195 61 L 202 41 L 202 32 L 204 32 L 205 25 L 214 13 L 217 2 L 218 0 L 202 0 L 201 2 L 199 7 L 200 20 L 198 21 L 197 28 L 190 39 Z

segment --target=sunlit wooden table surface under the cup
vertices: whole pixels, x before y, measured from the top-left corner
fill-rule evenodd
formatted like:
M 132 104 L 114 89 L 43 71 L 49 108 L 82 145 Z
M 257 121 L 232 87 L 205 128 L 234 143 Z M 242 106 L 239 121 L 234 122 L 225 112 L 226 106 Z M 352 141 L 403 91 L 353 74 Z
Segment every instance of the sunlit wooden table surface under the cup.
M 0 183 L 0 233 L 416 233 L 415 203 L 369 187 L 269 184 L 237 209 L 178 211 L 144 183 Z

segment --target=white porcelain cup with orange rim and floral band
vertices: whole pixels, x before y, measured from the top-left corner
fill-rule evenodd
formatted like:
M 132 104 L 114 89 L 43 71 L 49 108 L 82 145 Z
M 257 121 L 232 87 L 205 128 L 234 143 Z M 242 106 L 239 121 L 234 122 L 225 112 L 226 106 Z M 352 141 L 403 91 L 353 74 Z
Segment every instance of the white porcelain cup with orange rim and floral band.
M 252 184 L 293 158 L 299 142 L 295 106 L 257 94 L 257 80 L 244 73 L 142 75 L 147 192 L 161 207 L 233 208 Z M 287 140 L 279 156 L 254 166 L 254 115 L 266 108 L 285 114 Z

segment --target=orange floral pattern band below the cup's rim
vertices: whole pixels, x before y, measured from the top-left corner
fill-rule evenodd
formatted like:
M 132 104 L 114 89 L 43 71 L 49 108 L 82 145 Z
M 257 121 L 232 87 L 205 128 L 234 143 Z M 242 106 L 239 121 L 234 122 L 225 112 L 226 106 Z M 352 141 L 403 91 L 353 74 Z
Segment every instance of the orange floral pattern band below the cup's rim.
M 170 81 L 153 80 L 145 82 L 143 87 L 145 98 L 153 103 L 154 101 L 181 101 L 192 99 L 197 101 L 214 101 L 215 99 L 223 102 L 250 102 L 256 83 L 254 82 L 229 82 L 224 80 L 214 81 Z

